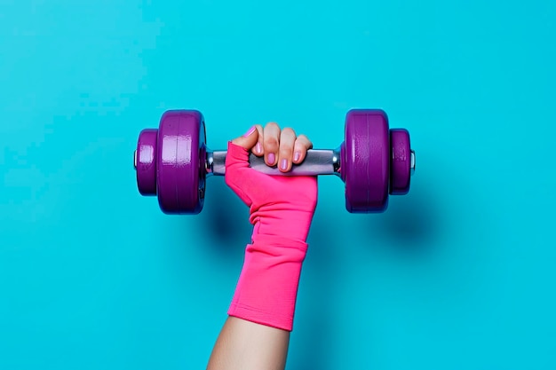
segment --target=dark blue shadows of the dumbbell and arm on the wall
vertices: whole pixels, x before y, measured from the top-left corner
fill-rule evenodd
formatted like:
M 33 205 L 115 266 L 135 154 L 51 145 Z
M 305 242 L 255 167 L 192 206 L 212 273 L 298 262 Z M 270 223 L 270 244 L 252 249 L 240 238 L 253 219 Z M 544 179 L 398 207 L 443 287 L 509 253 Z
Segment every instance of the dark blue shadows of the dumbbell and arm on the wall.
M 324 192 L 326 194 L 326 192 Z M 372 243 L 373 248 L 388 248 L 401 256 L 430 256 L 435 241 L 441 232 L 441 215 L 439 204 L 433 194 L 433 186 L 419 184 L 414 186 L 406 196 L 394 196 L 389 208 L 379 215 L 350 215 L 351 224 L 362 238 L 380 240 Z M 305 312 L 296 313 L 296 321 L 304 322 L 306 327 L 296 337 L 292 346 L 289 370 L 305 368 L 328 369 L 326 357 L 314 356 L 324 353 L 330 346 L 334 327 L 330 320 L 334 318 L 334 304 L 322 304 L 330 295 L 330 288 L 337 286 L 333 273 L 341 248 L 338 248 L 335 235 L 338 232 L 332 223 L 340 204 L 332 209 L 330 203 L 322 202 L 314 217 L 310 247 L 304 265 L 301 283 L 305 288 L 303 308 Z M 345 209 L 341 209 L 346 212 Z M 227 187 L 223 177 L 210 178 L 207 186 L 207 198 L 204 209 L 198 216 L 191 216 L 189 239 L 203 242 L 207 251 L 215 258 L 226 261 L 229 258 L 241 258 L 244 246 L 250 240 L 252 226 L 248 221 L 249 209 Z M 336 225 L 338 226 L 338 225 Z M 317 249 L 318 247 L 318 249 Z M 333 341 L 332 341 L 333 342 Z M 294 344 L 294 343 L 292 343 Z M 295 350 L 294 350 L 295 348 Z M 321 359 L 322 358 L 322 359 Z

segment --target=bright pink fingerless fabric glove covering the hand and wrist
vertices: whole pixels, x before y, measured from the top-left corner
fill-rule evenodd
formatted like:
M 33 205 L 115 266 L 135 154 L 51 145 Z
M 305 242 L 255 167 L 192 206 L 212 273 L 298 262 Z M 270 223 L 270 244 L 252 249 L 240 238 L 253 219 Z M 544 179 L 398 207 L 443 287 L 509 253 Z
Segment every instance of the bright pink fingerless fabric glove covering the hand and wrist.
M 230 316 L 291 331 L 316 177 L 269 176 L 249 167 L 249 152 L 228 143 L 226 184 L 250 207 L 254 225 Z

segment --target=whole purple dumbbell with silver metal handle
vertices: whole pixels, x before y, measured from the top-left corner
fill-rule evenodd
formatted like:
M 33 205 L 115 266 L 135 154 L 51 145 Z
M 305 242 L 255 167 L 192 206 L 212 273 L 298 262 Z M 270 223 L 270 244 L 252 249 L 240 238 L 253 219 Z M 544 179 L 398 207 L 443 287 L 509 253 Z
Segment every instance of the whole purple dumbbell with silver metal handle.
M 336 149 L 307 151 L 288 173 L 254 154 L 250 167 L 273 176 L 336 175 L 346 183 L 348 212 L 384 212 L 389 194 L 409 192 L 416 157 L 408 130 L 389 130 L 383 110 L 352 109 L 346 114 L 345 135 Z M 158 195 L 165 214 L 201 212 L 207 177 L 226 173 L 226 151 L 206 146 L 203 114 L 196 110 L 167 111 L 158 130 L 142 130 L 133 160 L 139 193 Z

